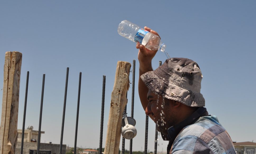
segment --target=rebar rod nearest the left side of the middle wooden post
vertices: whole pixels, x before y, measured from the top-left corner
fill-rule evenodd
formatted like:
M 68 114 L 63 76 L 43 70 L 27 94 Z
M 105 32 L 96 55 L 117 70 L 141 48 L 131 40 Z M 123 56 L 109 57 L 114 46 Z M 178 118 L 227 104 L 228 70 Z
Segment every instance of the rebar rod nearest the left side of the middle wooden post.
M 99 154 L 102 153 L 102 140 L 103 140 L 103 121 L 104 121 L 104 106 L 105 106 L 105 86 L 106 86 L 106 76 L 103 76 L 102 83 L 102 98 L 101 98 L 101 118 L 100 118 L 100 150 Z

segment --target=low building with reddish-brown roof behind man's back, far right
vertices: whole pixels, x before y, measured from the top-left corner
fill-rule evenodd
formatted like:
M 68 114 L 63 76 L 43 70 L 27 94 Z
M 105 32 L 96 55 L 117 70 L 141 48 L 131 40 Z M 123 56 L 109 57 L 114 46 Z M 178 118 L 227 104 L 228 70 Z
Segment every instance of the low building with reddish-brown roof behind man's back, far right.
M 234 142 L 237 154 L 256 154 L 256 143 L 254 142 Z

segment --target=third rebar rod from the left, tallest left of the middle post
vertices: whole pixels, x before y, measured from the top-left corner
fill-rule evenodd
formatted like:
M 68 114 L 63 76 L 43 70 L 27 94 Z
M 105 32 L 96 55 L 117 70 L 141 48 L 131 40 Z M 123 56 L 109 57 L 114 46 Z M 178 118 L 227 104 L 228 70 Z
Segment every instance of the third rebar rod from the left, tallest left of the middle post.
M 59 154 L 62 154 L 62 140 L 63 140 L 63 131 L 64 131 L 65 111 L 66 111 L 67 89 L 68 89 L 68 71 L 69 71 L 69 68 L 67 67 L 63 114 L 62 114 L 62 126 L 61 126 L 60 144 L 59 144 Z

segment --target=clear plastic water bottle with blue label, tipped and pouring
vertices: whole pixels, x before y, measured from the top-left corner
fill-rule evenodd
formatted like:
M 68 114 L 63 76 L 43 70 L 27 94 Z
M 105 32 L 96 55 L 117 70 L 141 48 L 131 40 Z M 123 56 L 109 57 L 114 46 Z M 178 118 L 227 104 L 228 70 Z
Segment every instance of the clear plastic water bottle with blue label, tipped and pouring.
M 119 24 L 117 32 L 133 42 L 139 42 L 149 50 L 160 50 L 165 53 L 167 58 L 170 58 L 165 51 L 165 44 L 161 42 L 160 37 L 146 31 L 136 24 L 124 20 Z

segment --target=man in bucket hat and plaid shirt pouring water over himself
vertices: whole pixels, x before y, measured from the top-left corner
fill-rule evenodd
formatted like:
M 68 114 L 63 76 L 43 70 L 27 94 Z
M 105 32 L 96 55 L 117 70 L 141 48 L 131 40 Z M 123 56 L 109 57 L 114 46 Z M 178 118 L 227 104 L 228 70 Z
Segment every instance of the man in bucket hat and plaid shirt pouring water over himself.
M 141 44 L 136 48 L 141 104 L 162 138 L 169 140 L 167 153 L 236 153 L 225 128 L 203 107 L 205 101 L 200 93 L 203 76 L 198 64 L 187 58 L 170 58 L 153 71 L 151 60 L 157 51 Z

